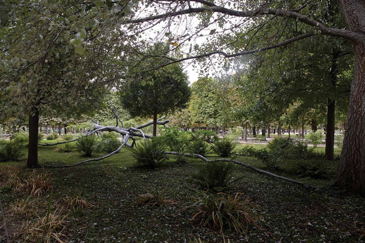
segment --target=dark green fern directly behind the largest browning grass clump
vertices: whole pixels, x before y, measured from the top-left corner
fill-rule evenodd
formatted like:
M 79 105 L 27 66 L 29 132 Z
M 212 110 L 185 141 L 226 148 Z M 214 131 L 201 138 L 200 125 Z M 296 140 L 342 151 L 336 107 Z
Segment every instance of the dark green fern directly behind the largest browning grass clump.
M 231 179 L 233 170 L 231 162 L 212 161 L 200 165 L 199 171 L 193 174 L 189 181 L 198 184 L 200 188 L 219 192 L 233 182 Z

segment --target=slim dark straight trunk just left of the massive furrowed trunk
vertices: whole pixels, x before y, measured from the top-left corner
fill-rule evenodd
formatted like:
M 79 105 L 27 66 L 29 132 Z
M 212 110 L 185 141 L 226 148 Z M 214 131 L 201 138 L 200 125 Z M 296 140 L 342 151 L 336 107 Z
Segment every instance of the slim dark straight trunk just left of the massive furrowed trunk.
M 326 126 L 326 150 L 327 160 L 333 160 L 335 143 L 335 101 L 328 99 L 327 106 L 327 126 Z

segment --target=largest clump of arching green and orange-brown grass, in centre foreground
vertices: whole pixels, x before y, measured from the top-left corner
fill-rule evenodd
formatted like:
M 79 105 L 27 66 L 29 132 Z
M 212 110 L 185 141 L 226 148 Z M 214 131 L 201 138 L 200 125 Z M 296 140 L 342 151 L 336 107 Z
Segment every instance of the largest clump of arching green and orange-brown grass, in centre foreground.
M 257 205 L 246 199 L 241 199 L 242 193 L 227 195 L 225 193 L 208 194 L 196 190 L 196 195 L 185 203 L 181 209 L 191 215 L 191 222 L 197 222 L 211 229 L 228 227 L 231 231 L 241 233 L 258 221 L 254 215 L 259 210 Z

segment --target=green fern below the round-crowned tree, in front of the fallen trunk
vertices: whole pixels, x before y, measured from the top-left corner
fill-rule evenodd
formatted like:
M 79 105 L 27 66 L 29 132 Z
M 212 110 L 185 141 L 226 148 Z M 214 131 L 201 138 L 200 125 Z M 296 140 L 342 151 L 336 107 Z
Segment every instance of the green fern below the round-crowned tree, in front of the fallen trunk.
M 145 142 L 132 150 L 132 156 L 137 160 L 137 165 L 147 168 L 155 168 L 167 159 L 164 147 L 155 141 Z

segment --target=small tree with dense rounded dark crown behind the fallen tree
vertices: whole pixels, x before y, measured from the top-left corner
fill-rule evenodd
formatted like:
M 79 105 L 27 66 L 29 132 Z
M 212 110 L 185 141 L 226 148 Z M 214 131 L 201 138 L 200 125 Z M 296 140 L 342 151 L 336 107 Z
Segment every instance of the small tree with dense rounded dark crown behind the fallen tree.
M 146 72 L 141 80 L 127 84 L 121 102 L 132 116 L 153 116 L 153 136 L 157 136 L 157 115 L 187 107 L 190 98 L 188 76 L 179 64 Z

